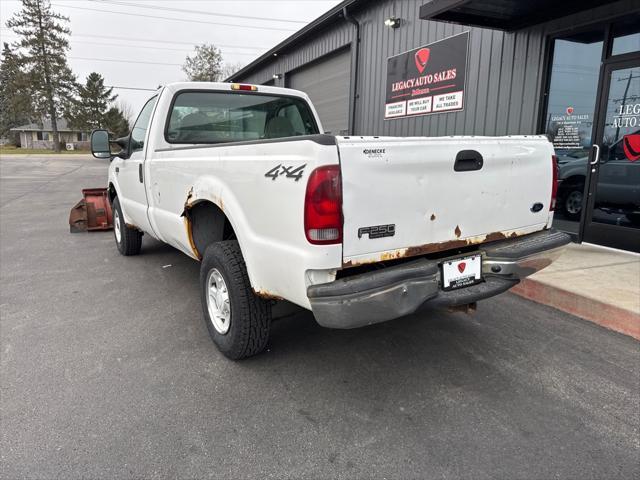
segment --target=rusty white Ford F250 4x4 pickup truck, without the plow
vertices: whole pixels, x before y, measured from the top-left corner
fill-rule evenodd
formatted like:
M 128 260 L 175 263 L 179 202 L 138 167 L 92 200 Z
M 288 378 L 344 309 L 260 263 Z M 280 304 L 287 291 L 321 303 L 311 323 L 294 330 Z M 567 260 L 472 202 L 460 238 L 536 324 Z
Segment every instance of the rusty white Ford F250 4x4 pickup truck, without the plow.
M 233 359 L 265 348 L 279 300 L 331 328 L 466 306 L 569 242 L 550 229 L 543 136 L 327 135 L 303 92 L 195 82 L 163 87 L 129 136 L 96 130 L 91 145 L 112 160 L 118 250 L 138 254 L 148 234 L 200 260 L 206 325 Z

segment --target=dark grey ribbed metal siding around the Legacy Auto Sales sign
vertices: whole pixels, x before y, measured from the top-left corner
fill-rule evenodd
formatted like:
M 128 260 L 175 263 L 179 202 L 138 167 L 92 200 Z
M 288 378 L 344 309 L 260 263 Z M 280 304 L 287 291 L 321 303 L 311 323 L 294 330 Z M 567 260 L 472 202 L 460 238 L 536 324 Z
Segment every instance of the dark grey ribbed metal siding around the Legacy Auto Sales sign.
M 353 12 L 361 24 L 359 98 L 354 133 L 397 136 L 538 133 L 547 37 L 640 9 L 640 1 L 622 0 L 507 33 L 420 20 L 418 12 L 422 3 L 418 0 L 370 2 Z M 402 26 L 396 30 L 386 27 L 384 20 L 390 16 L 401 18 Z M 464 111 L 385 121 L 387 58 L 466 30 L 471 32 L 471 37 Z M 274 73 L 286 75 L 349 45 L 354 32 L 353 25 L 344 20 L 337 21 L 313 40 L 302 42 L 241 80 L 262 83 Z M 319 71 L 318 75 L 321 74 Z M 276 85 L 284 86 L 284 80 Z

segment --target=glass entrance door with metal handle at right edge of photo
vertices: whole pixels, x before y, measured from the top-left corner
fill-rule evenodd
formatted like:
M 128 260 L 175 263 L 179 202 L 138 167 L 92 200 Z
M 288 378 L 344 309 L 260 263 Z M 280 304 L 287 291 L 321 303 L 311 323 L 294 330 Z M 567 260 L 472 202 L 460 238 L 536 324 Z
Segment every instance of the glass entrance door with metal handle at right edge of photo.
M 583 239 L 640 251 L 640 59 L 604 65 Z

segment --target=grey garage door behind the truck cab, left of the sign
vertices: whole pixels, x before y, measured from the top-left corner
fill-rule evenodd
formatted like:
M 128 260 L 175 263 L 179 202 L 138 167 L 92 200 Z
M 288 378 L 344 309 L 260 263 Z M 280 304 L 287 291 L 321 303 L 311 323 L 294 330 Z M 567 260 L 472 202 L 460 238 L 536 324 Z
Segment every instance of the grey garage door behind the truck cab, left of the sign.
M 344 50 L 287 75 L 287 86 L 311 98 L 325 132 L 346 135 L 349 129 L 351 52 Z

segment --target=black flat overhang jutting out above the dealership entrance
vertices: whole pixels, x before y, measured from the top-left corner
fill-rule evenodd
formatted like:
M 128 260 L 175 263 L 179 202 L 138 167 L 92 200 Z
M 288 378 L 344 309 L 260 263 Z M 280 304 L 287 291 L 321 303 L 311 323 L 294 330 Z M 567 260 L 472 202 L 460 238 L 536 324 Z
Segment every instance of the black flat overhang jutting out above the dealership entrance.
M 497 30 L 520 30 L 618 0 L 429 0 L 422 20 Z

